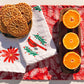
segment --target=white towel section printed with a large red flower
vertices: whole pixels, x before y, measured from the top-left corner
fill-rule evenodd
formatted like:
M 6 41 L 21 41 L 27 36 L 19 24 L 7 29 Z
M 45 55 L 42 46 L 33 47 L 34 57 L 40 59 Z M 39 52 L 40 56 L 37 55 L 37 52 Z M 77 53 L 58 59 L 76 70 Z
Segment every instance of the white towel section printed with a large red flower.
M 25 67 L 18 39 L 0 33 L 0 71 L 24 73 Z

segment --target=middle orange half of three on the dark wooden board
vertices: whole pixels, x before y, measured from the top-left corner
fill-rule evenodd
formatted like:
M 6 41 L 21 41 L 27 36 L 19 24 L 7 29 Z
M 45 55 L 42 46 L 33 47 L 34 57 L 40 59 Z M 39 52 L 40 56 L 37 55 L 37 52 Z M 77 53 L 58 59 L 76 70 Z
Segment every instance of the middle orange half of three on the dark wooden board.
M 63 37 L 63 45 L 66 49 L 73 50 L 79 45 L 79 37 L 73 32 L 65 34 Z

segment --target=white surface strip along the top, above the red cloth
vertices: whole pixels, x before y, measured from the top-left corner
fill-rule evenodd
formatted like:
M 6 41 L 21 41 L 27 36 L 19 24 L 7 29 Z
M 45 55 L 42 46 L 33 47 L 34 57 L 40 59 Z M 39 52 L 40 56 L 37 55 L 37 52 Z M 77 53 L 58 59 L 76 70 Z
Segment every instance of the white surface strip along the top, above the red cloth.
M 0 0 L 0 5 L 16 4 L 19 2 L 26 2 L 28 4 L 38 5 L 84 5 L 84 0 Z

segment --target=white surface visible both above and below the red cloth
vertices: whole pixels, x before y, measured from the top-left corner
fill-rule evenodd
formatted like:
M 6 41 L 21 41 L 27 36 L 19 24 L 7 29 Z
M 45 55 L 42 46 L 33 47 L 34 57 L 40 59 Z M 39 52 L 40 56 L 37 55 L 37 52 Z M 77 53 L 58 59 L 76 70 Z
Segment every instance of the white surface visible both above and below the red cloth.
M 84 5 L 84 0 L 0 0 L 0 5 L 25 2 L 30 5 Z M 84 81 L 21 81 L 0 80 L 0 84 L 84 84 Z

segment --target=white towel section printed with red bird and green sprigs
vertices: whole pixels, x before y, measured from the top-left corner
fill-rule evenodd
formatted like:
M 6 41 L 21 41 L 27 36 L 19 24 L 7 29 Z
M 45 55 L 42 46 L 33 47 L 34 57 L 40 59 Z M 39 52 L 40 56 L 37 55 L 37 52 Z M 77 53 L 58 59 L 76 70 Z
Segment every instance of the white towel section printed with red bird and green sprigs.
M 32 64 L 57 53 L 48 25 L 39 6 L 33 10 L 32 28 L 29 35 L 19 40 L 19 45 L 26 61 Z

